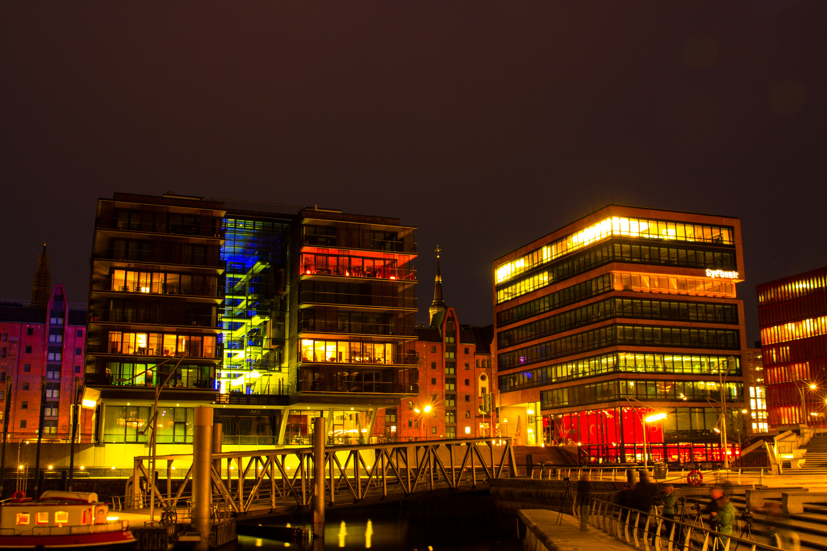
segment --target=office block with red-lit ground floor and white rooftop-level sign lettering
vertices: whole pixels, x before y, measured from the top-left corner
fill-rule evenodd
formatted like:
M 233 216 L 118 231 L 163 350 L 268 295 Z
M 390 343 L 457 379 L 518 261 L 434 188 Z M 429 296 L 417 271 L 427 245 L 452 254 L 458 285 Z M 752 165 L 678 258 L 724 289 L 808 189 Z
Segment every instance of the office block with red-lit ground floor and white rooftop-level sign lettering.
M 737 218 L 609 205 L 495 260 L 493 276 L 500 434 L 527 444 L 528 427 L 584 461 L 633 462 L 646 425 L 652 460 L 723 458 L 720 384 L 728 407 L 745 401 Z M 666 419 L 644 422 L 653 411 Z

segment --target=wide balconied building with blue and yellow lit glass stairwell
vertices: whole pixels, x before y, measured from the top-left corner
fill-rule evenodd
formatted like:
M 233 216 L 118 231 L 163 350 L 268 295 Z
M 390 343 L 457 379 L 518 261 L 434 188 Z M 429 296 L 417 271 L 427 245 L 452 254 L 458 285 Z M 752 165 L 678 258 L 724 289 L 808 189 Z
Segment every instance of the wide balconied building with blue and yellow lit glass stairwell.
M 218 409 L 227 446 L 307 444 L 314 416 L 332 440 L 366 442 L 380 410 L 418 392 L 415 256 L 398 219 L 171 192 L 98 200 L 85 381 L 102 391 L 105 462 L 143 453 L 170 373 L 170 449 L 192 443 L 195 406 Z

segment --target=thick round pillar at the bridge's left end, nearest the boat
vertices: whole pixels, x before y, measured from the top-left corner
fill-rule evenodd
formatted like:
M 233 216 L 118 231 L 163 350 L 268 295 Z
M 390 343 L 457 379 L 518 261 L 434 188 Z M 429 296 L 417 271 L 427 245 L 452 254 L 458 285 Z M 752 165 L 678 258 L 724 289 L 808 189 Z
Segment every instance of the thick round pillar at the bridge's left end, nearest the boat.
M 201 534 L 194 543 L 194 551 L 207 551 L 210 534 L 210 501 L 213 487 L 210 483 L 210 466 L 213 460 L 213 408 L 195 408 L 193 435 L 193 524 L 192 530 Z

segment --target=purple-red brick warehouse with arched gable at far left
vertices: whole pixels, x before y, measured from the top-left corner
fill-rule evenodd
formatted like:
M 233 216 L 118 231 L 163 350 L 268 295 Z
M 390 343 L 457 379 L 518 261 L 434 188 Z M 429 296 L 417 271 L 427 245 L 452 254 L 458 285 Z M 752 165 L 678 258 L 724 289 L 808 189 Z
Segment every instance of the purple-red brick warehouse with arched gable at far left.
M 45 307 L 35 304 L 0 303 L 0 411 L 9 406 L 3 428 L 10 442 L 36 439 L 45 396 L 44 441 L 69 442 L 75 381 L 83 377 L 86 309 L 69 305 L 60 283 L 45 295 Z M 80 411 L 76 441 L 93 441 L 92 417 L 91 411 Z

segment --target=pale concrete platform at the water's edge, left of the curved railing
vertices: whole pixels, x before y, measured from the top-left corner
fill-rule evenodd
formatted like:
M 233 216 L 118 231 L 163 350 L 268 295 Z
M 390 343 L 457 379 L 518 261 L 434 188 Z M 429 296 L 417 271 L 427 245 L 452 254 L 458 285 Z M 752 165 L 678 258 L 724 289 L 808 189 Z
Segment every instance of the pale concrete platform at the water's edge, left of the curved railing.
M 580 520 L 546 509 L 520 509 L 518 522 L 525 551 L 629 551 L 629 545 L 594 526 L 580 530 Z

